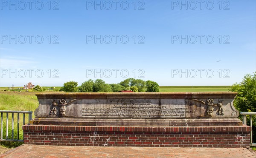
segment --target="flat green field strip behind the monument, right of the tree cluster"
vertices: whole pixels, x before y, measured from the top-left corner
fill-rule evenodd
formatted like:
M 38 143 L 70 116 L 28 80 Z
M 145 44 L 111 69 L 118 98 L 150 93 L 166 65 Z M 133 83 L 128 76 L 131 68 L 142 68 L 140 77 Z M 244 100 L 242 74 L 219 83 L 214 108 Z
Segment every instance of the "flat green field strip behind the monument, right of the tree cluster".
M 160 92 L 227 92 L 230 86 L 160 86 Z

